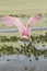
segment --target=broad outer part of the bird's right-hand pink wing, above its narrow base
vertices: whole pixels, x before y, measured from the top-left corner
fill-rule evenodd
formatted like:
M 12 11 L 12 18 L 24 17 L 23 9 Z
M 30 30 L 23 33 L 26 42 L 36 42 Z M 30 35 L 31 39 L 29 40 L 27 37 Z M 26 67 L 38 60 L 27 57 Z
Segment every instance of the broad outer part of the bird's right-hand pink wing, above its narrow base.
M 42 17 L 42 14 L 36 14 L 32 17 L 30 17 L 28 22 L 27 22 L 27 26 L 30 27 L 31 25 L 37 23 Z

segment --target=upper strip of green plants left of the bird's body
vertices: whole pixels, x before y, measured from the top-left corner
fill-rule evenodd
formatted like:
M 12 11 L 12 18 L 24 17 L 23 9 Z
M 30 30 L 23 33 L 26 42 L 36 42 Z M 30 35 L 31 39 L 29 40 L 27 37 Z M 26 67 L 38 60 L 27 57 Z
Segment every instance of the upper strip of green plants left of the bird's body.
M 4 42 L 17 42 L 21 40 L 20 37 L 17 36 L 12 36 L 12 37 L 7 37 L 7 36 L 0 36 L 0 42 L 4 43 Z

